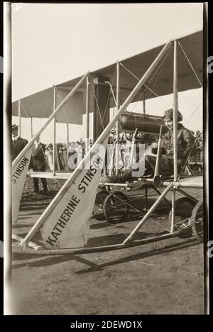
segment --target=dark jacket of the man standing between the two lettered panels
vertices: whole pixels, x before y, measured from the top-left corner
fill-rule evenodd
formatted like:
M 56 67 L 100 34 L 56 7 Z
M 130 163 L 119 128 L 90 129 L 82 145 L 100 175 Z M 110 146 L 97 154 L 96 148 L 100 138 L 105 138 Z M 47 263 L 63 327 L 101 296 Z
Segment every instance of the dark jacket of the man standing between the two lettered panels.
M 34 172 L 45 172 L 45 144 L 39 143 L 37 148 L 35 148 L 35 144 L 33 144 L 29 168 L 33 168 Z

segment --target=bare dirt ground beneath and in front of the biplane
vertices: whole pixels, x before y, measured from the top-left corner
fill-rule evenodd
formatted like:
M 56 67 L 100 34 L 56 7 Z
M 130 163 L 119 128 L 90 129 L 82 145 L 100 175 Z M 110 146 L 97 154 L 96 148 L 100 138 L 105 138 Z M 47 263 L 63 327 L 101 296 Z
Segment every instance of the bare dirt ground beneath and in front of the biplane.
M 34 223 L 50 200 L 23 199 L 18 222 Z M 136 223 L 92 220 L 90 243 L 119 243 Z M 158 223 L 165 226 L 168 214 L 154 216 L 138 237 Z M 13 255 L 12 265 L 13 314 L 204 314 L 203 245 L 193 236 L 87 255 Z

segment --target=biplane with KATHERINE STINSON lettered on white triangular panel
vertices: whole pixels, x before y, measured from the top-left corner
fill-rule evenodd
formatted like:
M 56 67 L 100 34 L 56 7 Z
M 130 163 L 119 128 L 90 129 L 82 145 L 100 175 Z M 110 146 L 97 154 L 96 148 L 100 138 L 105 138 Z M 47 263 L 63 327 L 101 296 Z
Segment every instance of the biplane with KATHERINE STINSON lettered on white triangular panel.
M 40 112 L 45 112 L 45 116 L 49 115 L 43 127 L 33 136 L 12 164 L 13 226 L 16 226 L 23 184 L 31 159 L 31 147 L 50 122 L 54 121 L 55 132 L 57 119 L 57 121 L 67 123 L 72 121 L 73 114 L 70 110 L 74 109 L 78 115 L 86 113 L 87 138 L 89 138 L 89 111 L 93 110 L 95 140 L 90 148 L 87 146 L 85 156 L 72 173 L 57 174 L 53 170 L 53 178 L 66 179 L 66 182 L 38 221 L 26 233 L 26 236 L 21 238 L 13 235 L 13 253 L 29 255 L 95 253 L 163 240 L 177 236 L 182 230 L 189 228 L 198 240 L 203 239 L 202 194 L 198 199 L 195 193 L 190 194 L 186 191 L 186 189 L 197 189 L 201 192 L 203 177 L 182 176 L 183 174 L 178 172 L 177 154 L 178 93 L 202 87 L 202 34 L 202 31 L 197 31 L 170 40 L 165 45 L 141 52 L 100 70 L 87 72 L 82 77 L 13 103 L 13 115 L 20 115 L 21 105 L 27 109 L 28 114 L 39 109 Z M 63 99 L 57 102 L 58 89 L 62 89 Z M 93 104 L 89 98 L 91 94 L 93 94 Z M 158 167 L 160 139 L 163 131 L 162 117 L 146 114 L 146 99 L 168 94 L 173 94 L 174 166 L 173 176 L 165 178 L 159 174 Z M 129 104 L 140 100 L 143 101 L 143 114 L 140 117 L 140 123 L 137 123 L 138 115 L 129 114 L 126 109 Z M 110 107 L 116 108 L 111 121 L 109 120 Z M 139 128 L 143 133 L 158 135 L 158 150 L 153 176 L 130 177 L 122 183 L 116 181 L 119 179 L 118 145 L 121 119 L 124 127 L 126 126 L 133 133 L 136 133 Z M 106 148 L 112 128 L 116 128 L 114 180 L 106 181 L 102 169 L 105 165 Z M 53 146 L 55 147 L 55 142 L 53 142 Z M 129 169 L 131 165 L 130 152 Z M 185 167 L 186 165 L 184 165 Z M 181 170 L 181 173 L 183 172 L 184 169 Z M 47 177 L 41 173 L 33 176 Z M 153 199 L 151 204 L 148 204 L 149 188 L 158 194 L 157 199 Z M 135 190 L 139 190 L 137 198 L 142 197 L 142 192 L 145 192 L 143 195 L 145 203 L 141 208 L 133 204 L 135 197 L 129 198 L 129 192 Z M 169 199 L 168 195 L 170 195 Z M 156 211 L 158 211 L 158 215 L 160 214 L 159 206 L 162 202 L 167 205 L 169 214 L 166 221 L 155 222 L 162 229 L 159 231 L 159 229 L 155 230 L 154 227 L 151 227 L 147 221 L 153 221 L 153 214 Z M 105 243 L 106 241 L 103 241 L 100 245 L 89 244 L 92 243 L 92 232 L 89 231 L 92 218 L 101 221 L 104 216 L 107 221 L 116 226 L 128 218 L 130 209 L 135 209 L 137 212 L 136 225 L 130 233 L 125 234 L 125 238 L 121 242 Z M 140 216 L 141 220 L 138 221 Z M 148 229 L 151 227 L 152 232 L 148 234 L 145 232 L 142 233 L 142 236 L 138 236 L 142 226 L 146 228 L 145 225 L 148 226 Z M 39 232 L 40 238 L 36 242 L 36 238 L 38 238 L 36 235 Z

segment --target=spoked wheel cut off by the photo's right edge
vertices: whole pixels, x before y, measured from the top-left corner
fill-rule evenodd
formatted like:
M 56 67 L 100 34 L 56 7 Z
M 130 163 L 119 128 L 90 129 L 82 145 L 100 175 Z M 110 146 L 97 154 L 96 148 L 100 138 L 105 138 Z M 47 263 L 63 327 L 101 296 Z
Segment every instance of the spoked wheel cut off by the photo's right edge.
M 203 202 L 199 201 L 192 211 L 192 232 L 197 240 L 203 240 Z

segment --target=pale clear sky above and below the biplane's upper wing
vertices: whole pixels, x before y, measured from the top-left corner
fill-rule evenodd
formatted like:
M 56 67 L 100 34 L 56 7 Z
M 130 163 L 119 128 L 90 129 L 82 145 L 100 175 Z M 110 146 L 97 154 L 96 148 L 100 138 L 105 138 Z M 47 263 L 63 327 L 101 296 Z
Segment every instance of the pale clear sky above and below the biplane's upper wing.
M 201 3 L 15 3 L 12 5 L 12 100 L 200 29 Z M 172 103 L 172 96 L 152 99 L 147 103 L 147 112 L 163 115 L 165 105 Z M 186 126 L 202 130 L 201 89 L 180 93 L 179 106 Z M 140 111 L 141 104 L 131 105 L 129 109 Z M 12 121 L 18 123 L 18 118 L 13 117 Z M 44 121 L 33 119 L 34 133 Z M 21 123 L 21 135 L 29 139 L 30 119 L 23 118 Z M 85 118 L 83 123 L 83 126 L 70 124 L 70 141 L 85 135 Z M 50 143 L 52 132 L 50 124 L 41 140 Z M 58 124 L 56 140 L 64 143 L 66 137 L 65 125 Z

